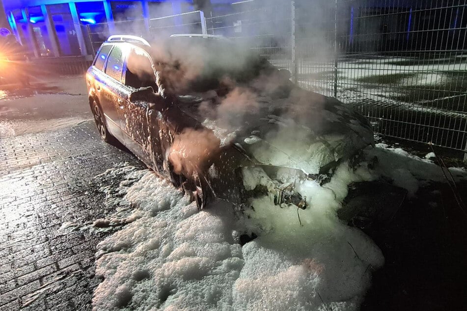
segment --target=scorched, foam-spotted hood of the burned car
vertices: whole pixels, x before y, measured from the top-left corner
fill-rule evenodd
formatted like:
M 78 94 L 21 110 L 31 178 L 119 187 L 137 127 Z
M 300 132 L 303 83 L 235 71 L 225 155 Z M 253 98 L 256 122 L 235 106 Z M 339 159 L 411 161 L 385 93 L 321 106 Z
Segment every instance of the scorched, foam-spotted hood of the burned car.
M 239 103 L 244 100 L 240 98 Z M 245 110 L 236 107 L 227 115 L 206 115 L 212 109 L 221 110 L 216 105 L 207 109 L 205 102 L 204 107 L 185 110 L 214 131 L 221 147 L 235 144 L 257 163 L 306 174 L 319 174 L 374 144 L 368 120 L 351 107 L 299 88 L 282 98 L 260 94 Z

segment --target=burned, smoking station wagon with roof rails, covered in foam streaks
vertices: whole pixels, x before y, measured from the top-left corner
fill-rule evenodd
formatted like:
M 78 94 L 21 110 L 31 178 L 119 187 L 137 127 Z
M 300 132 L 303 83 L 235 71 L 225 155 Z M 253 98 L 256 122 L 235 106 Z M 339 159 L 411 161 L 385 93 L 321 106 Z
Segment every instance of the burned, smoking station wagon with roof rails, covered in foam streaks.
M 369 122 L 350 107 L 218 36 L 153 45 L 110 36 L 86 82 L 101 137 L 125 145 L 199 208 L 215 198 L 243 207 L 261 194 L 304 209 L 298 180 L 325 182 L 374 144 Z

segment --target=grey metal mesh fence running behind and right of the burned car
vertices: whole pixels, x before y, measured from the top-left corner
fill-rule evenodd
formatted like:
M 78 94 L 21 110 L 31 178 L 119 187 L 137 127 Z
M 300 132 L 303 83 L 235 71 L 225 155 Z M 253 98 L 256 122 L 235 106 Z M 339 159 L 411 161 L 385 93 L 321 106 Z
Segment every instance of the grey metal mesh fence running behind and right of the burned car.
M 466 4 L 250 0 L 206 24 L 288 68 L 302 87 L 351 104 L 377 133 L 465 150 Z

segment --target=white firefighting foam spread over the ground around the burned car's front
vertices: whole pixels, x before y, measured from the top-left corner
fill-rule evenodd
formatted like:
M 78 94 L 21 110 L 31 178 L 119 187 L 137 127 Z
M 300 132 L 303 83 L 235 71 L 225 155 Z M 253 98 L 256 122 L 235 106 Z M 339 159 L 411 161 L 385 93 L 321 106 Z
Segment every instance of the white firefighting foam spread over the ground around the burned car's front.
M 137 219 L 98 246 L 96 274 L 104 281 L 93 308 L 358 310 L 384 258 L 368 236 L 337 218 L 347 185 L 385 176 L 404 186 L 390 168 L 417 185 L 442 179 L 433 163 L 382 147 L 365 151 L 368 159 L 379 157 L 376 170 L 343 163 L 324 186 L 300 183 L 308 207 L 298 211 L 260 197 L 242 216 L 223 202 L 198 212 L 187 195 L 147 171 L 122 198 L 136 207 Z M 247 186 L 254 186 L 255 174 Z M 407 188 L 413 191 L 413 184 Z M 241 233 L 251 232 L 258 237 L 238 244 Z

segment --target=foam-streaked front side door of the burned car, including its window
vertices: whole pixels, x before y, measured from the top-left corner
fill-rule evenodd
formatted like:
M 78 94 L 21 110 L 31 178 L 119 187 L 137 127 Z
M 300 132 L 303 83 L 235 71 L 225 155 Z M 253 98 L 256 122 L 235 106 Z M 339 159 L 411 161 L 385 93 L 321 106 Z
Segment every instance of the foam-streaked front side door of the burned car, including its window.
M 152 61 L 149 55 L 139 48 L 132 48 L 128 53 L 123 73 L 123 84 L 129 94 L 141 87 L 151 86 L 157 93 L 157 84 Z M 163 155 L 159 135 L 159 121 L 164 101 L 154 95 L 148 101 L 130 101 L 130 97 L 121 103 L 121 128 L 126 136 L 126 145 L 147 165 L 161 171 Z

